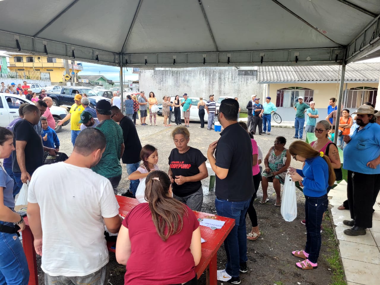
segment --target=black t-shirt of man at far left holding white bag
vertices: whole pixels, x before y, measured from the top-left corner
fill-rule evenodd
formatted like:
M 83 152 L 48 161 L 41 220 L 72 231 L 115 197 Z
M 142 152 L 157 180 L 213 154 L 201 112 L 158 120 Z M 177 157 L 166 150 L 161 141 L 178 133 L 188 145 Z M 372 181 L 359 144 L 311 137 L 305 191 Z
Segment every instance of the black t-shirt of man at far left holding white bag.
M 33 125 L 25 119 L 20 120 L 13 127 L 13 143 L 16 147 L 16 141 L 26 141 L 25 146 L 25 167 L 28 173 L 34 172 L 40 167 L 44 160 L 44 148 L 42 139 L 36 133 Z M 21 172 L 17 162 L 16 150 L 12 152 L 12 171 Z

